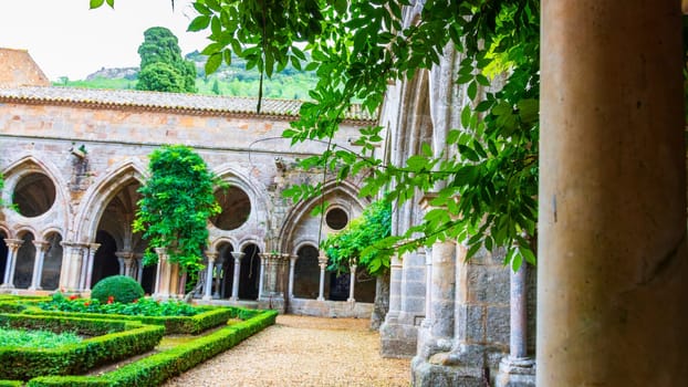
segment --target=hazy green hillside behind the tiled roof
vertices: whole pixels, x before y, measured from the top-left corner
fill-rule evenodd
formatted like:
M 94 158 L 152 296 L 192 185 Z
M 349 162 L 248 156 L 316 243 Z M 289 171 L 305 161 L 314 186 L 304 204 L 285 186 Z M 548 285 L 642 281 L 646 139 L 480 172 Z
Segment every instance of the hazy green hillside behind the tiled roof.
M 205 76 L 205 56 L 198 52 L 186 55 L 187 60 L 196 64 L 198 76 L 196 87 L 198 94 L 206 95 L 227 95 L 227 96 L 248 96 L 257 97 L 260 83 L 260 73 L 253 70 L 246 70 L 246 61 L 233 57 L 231 65 L 222 64 L 220 69 L 210 76 Z M 138 69 L 101 69 L 86 76 L 85 80 L 71 81 L 61 79 L 53 82 L 59 86 L 86 87 L 86 88 L 135 88 L 136 74 Z M 268 98 L 284 100 L 310 100 L 309 91 L 315 86 L 317 79 L 315 73 L 299 71 L 286 66 L 283 71 L 274 74 L 272 79 L 263 81 L 263 96 Z

